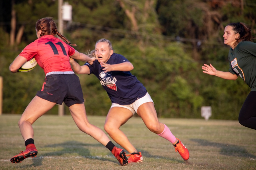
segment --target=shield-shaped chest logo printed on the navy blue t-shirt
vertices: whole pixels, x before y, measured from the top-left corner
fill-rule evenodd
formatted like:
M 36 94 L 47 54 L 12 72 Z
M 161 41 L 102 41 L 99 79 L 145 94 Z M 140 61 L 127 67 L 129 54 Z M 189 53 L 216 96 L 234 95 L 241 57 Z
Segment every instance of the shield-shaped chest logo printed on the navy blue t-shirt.
M 115 90 L 117 91 L 117 87 L 116 87 L 116 78 L 112 77 L 111 74 L 108 74 L 108 73 L 104 73 L 101 72 L 100 73 L 100 84 L 103 85 L 103 86 L 107 86 L 108 88 L 112 89 L 112 90 Z

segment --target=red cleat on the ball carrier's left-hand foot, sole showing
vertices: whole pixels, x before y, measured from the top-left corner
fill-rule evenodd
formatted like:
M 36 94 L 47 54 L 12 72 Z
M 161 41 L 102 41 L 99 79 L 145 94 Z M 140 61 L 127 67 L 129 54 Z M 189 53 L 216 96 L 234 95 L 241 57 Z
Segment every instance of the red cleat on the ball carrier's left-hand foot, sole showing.
M 24 152 L 20 151 L 19 154 L 13 156 L 10 161 L 12 163 L 19 163 L 28 157 L 31 157 L 31 158 L 33 158 L 34 156 L 36 157 L 36 155 L 37 155 L 36 147 L 27 148 Z

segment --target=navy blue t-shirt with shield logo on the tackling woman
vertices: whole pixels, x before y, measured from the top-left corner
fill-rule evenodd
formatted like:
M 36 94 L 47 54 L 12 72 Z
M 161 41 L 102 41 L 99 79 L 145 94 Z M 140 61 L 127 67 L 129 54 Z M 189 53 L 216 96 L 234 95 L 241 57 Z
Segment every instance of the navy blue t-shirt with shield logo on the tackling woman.
M 128 60 L 124 56 L 113 53 L 106 63 L 118 64 L 126 61 Z M 112 103 L 121 105 L 131 104 L 147 93 L 143 84 L 130 71 L 111 71 L 104 73 L 98 60 L 95 60 L 92 65 L 89 63 L 85 63 L 84 65 L 89 67 L 90 74 L 98 77 Z

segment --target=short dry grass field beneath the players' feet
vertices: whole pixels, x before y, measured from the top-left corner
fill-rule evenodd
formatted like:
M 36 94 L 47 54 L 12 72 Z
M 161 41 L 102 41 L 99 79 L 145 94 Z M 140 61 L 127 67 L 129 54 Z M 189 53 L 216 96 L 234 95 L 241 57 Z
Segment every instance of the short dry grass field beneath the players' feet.
M 20 115 L 0 115 L 0 169 L 256 169 L 256 130 L 243 127 L 238 121 L 159 119 L 188 148 L 190 158 L 184 161 L 169 141 L 133 117 L 121 129 L 142 152 L 144 160 L 120 166 L 108 149 L 82 133 L 68 115 L 40 117 L 33 125 L 37 157 L 12 164 L 10 158 L 25 149 L 19 118 Z M 88 119 L 103 129 L 105 117 Z

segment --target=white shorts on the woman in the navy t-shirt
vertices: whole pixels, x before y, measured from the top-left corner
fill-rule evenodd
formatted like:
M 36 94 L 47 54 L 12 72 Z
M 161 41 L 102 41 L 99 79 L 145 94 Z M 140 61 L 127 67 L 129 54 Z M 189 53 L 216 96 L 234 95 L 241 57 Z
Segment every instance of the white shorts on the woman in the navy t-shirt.
M 143 96 L 142 98 L 135 100 L 132 104 L 128 104 L 128 105 L 121 105 L 121 104 L 117 104 L 117 103 L 112 103 L 111 107 L 122 107 L 122 108 L 126 108 L 129 109 L 132 114 L 137 113 L 138 108 L 143 104 L 143 103 L 147 103 L 147 102 L 153 102 L 153 100 L 151 99 L 150 95 L 148 93 L 146 93 L 145 96 Z

